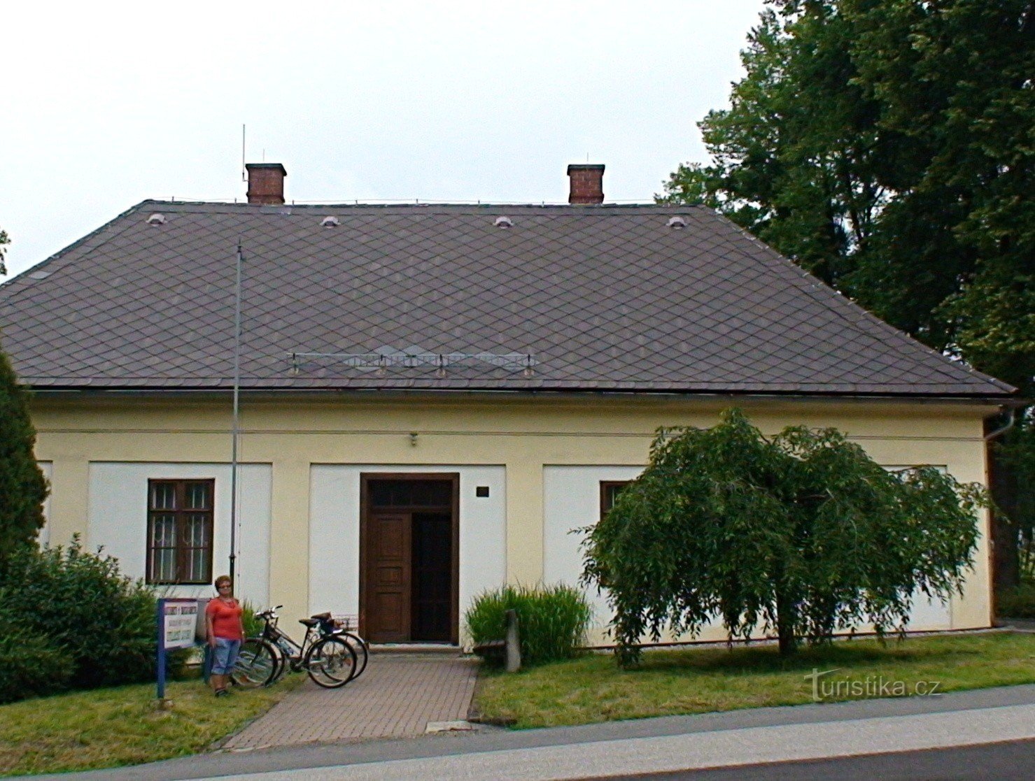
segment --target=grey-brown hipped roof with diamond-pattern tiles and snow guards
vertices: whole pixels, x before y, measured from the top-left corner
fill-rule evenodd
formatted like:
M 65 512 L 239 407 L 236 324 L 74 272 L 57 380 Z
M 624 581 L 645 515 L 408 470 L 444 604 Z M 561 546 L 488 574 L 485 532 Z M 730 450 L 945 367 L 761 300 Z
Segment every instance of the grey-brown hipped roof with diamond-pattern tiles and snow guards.
M 685 228 L 669 227 L 674 215 Z M 3 349 L 39 389 L 230 387 L 238 240 L 243 388 L 1012 391 L 701 207 L 145 201 L 0 287 Z M 290 357 L 385 349 L 521 354 L 532 366 Z

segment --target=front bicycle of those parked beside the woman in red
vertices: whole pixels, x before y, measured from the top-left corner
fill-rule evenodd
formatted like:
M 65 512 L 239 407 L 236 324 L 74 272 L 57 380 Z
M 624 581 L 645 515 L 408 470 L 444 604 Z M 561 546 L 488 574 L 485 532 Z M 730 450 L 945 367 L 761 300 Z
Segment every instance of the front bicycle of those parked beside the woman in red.
M 313 682 L 325 689 L 345 686 L 358 669 L 356 652 L 333 626 L 330 614 L 300 619 L 305 627 L 301 644 L 277 627 L 277 608 L 257 613 L 264 622 L 262 634 L 241 644 L 231 680 L 238 686 L 253 688 L 275 683 L 287 670 L 305 669 Z

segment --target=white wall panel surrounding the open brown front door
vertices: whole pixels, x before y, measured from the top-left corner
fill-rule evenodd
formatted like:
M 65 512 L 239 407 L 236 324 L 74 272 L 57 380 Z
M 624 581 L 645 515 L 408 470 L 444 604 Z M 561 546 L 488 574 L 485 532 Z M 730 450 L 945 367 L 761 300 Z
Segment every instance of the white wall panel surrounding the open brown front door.
M 309 611 L 359 612 L 359 477 L 363 473 L 460 474 L 460 611 L 506 578 L 503 467 L 313 464 L 309 470 Z M 475 488 L 489 486 L 487 497 Z

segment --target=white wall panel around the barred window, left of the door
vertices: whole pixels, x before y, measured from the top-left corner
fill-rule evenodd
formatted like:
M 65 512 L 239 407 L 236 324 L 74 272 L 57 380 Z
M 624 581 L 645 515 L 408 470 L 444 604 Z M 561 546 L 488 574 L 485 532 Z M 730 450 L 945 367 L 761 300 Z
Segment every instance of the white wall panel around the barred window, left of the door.
M 270 497 L 272 470 L 265 463 L 238 468 L 236 594 L 258 608 L 269 604 Z M 226 463 L 90 464 L 90 506 L 86 544 L 119 560 L 122 572 L 144 577 L 147 559 L 147 481 L 215 480 L 213 577 L 225 574 L 230 559 L 230 481 Z M 170 596 L 210 597 L 210 585 L 164 587 Z

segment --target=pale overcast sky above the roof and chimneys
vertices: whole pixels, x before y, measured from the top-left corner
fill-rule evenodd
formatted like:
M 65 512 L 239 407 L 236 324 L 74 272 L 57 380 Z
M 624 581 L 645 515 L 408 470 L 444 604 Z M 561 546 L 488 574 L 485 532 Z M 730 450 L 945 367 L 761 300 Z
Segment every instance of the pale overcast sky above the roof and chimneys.
M 5 4 L 10 278 L 149 198 L 558 203 L 569 162 L 649 201 L 706 158 L 762 0 Z M 31 6 L 31 7 L 30 7 Z

